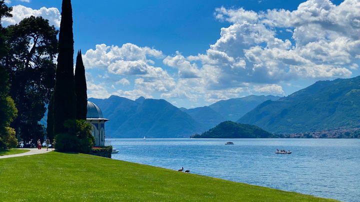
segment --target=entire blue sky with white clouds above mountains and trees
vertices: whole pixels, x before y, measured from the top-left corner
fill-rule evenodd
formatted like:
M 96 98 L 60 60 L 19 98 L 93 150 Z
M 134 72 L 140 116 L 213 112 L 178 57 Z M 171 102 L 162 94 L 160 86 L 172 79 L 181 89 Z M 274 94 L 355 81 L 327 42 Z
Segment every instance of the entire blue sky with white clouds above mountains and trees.
M 59 28 L 61 0 L 5 0 Z M 73 0 L 88 97 L 193 108 L 360 75 L 360 0 Z

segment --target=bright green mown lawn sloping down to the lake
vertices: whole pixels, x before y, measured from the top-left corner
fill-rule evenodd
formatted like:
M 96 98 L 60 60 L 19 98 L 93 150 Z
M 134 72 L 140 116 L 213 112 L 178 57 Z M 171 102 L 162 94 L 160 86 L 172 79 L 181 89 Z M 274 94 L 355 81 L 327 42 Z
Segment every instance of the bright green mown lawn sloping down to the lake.
M 84 154 L 0 159 L 1 201 L 331 202 Z

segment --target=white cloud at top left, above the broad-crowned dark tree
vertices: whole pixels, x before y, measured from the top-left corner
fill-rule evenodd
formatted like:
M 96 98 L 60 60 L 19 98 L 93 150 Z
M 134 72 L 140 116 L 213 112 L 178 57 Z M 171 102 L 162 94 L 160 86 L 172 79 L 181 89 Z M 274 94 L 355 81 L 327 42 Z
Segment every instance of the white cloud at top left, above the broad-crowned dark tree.
M 42 16 L 45 19 L 49 20 L 50 25 L 54 25 L 55 27 L 60 27 L 61 14 L 60 11 L 55 7 L 41 7 L 40 9 L 32 9 L 29 7 L 25 7 L 23 5 L 15 5 L 12 6 L 11 11 L 12 17 L 4 17 L 1 20 L 3 26 L 8 26 L 10 24 L 19 23 L 23 18 L 34 16 Z

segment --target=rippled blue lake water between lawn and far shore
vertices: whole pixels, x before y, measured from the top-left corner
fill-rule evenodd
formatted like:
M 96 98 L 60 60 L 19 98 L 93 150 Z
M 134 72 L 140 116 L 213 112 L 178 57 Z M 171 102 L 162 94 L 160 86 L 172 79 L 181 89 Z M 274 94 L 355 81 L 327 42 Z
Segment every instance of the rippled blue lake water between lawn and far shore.
M 113 159 L 360 202 L 360 139 L 108 140 L 119 150 Z

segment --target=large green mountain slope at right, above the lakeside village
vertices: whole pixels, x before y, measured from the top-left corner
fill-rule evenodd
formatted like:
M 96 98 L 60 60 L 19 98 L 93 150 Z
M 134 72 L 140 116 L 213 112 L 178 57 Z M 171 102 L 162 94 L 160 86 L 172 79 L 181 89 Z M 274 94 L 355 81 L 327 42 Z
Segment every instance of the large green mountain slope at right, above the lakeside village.
M 237 122 L 284 134 L 358 128 L 360 76 L 318 81 L 277 101 L 261 103 Z

